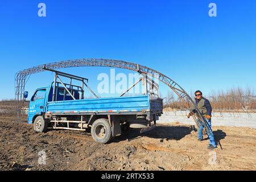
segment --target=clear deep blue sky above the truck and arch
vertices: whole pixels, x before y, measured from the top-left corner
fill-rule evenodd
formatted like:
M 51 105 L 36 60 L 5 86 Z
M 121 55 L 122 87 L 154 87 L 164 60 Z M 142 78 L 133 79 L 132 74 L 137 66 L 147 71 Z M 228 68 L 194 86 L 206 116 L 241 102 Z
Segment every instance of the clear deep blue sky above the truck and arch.
M 46 17 L 38 4 L 46 3 Z M 217 17 L 208 5 L 217 5 Z M 1 1 L 0 100 L 14 98 L 14 75 L 35 65 L 79 58 L 126 60 L 164 73 L 187 92 L 256 88 L 256 1 Z M 88 77 L 110 68 L 68 68 Z M 125 70 L 117 70 L 130 73 Z M 53 79 L 32 75 L 32 92 Z M 167 86 L 160 85 L 165 95 Z

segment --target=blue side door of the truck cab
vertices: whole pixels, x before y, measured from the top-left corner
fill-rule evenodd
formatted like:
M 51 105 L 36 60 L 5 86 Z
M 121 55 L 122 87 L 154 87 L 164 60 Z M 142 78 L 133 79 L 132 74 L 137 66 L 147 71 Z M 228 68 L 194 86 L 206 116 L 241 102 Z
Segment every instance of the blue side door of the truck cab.
M 46 97 L 46 89 L 36 90 L 30 100 L 28 117 L 41 114 L 44 111 L 44 98 Z

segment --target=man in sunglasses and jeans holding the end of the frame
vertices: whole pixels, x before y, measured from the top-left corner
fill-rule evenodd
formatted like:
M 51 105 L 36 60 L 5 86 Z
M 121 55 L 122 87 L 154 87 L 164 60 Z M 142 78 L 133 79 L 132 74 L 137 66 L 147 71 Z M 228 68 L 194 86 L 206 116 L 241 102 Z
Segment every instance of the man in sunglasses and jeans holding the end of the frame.
M 199 109 L 200 113 L 203 115 L 204 120 L 208 123 L 209 126 L 209 133 L 208 137 L 210 140 L 210 144 L 207 148 L 213 150 L 214 148 L 216 148 L 216 144 L 215 144 L 215 140 L 214 140 L 214 136 L 213 136 L 213 132 L 212 132 L 212 123 L 211 123 L 211 118 L 212 118 L 212 106 L 210 106 L 210 102 L 203 97 L 203 94 L 200 90 L 196 90 L 195 92 L 195 100 L 196 100 L 196 106 Z M 192 108 L 192 113 L 188 114 L 188 118 L 192 115 L 196 113 L 196 109 Z M 197 130 L 197 137 L 198 140 L 201 142 L 201 140 L 203 140 L 203 129 L 204 129 L 204 125 L 203 123 L 200 121 L 199 119 L 199 130 Z

